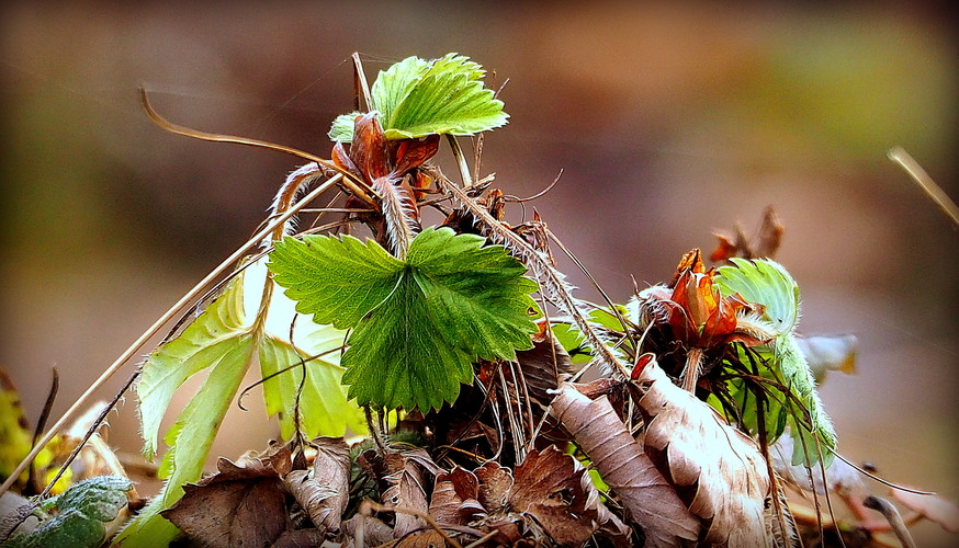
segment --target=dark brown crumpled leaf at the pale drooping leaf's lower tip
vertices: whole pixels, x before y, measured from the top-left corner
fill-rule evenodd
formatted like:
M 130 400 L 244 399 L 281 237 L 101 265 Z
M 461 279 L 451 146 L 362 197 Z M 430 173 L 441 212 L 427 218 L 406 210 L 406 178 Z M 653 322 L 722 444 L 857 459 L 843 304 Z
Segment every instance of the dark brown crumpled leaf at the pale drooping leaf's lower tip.
M 279 476 L 290 472 L 290 448 L 273 447 L 263 456 L 226 458 L 219 470 L 195 484 L 161 512 L 192 543 L 202 546 L 267 546 L 286 529 L 285 491 Z

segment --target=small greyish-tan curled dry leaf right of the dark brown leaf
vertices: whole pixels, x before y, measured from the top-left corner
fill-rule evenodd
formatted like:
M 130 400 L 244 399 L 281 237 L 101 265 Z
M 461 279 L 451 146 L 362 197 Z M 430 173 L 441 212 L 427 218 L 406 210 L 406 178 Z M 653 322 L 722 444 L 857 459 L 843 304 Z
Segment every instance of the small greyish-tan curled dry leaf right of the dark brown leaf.
M 283 484 L 320 530 L 337 532 L 350 502 L 350 448 L 342 437 L 317 437 L 312 472 L 293 470 Z

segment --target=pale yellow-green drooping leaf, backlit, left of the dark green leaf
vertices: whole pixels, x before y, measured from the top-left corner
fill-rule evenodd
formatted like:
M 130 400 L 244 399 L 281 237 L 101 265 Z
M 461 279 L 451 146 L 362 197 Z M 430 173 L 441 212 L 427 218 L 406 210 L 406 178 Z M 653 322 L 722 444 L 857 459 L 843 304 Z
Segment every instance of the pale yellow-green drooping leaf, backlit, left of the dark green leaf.
M 262 376 L 269 377 L 263 384 L 267 410 L 279 414 L 284 437 L 293 434 L 297 419 L 306 437 L 342 436 L 347 429 L 365 432 L 362 413 L 348 401 L 340 383 L 338 349 L 345 333 L 298 318 L 279 289 L 271 292 L 270 306 L 261 307 L 267 283 L 264 261 L 249 264 L 179 336 L 144 363 L 137 396 L 148 458 L 157 452 L 160 421 L 173 393 L 190 377 L 208 374 L 163 436 L 169 449 L 159 476 L 167 483 L 124 532 L 134 537 L 127 541 L 131 546 L 176 535 L 158 513 L 182 496 L 184 483 L 200 478 L 219 424 L 255 358 Z

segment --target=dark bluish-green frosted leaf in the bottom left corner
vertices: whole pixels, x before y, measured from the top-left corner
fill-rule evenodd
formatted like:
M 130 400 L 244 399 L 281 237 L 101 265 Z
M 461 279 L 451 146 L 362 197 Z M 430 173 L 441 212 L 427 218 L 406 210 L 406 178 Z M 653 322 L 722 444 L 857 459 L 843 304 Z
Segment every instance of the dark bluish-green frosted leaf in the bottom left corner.
M 83 480 L 58 496 L 44 501 L 37 513 L 40 525 L 32 532 L 3 543 L 4 548 L 83 548 L 103 544 L 104 523 L 113 521 L 126 506 L 126 492 L 133 489 L 120 476 L 98 476 Z

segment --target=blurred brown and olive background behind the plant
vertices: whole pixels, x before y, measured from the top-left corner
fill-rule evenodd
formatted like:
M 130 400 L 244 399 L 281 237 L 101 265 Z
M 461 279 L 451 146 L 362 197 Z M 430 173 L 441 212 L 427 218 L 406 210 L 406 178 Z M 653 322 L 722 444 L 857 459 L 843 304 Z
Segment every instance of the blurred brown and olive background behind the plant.
M 372 80 L 459 52 L 509 80 L 484 170 L 517 195 L 564 170 L 534 206 L 616 299 L 774 205 L 801 330 L 860 340 L 858 373 L 822 387 L 843 453 L 956 499 L 959 231 L 885 158 L 905 147 L 959 196 L 949 5 L 718 4 L 5 2 L 0 367 L 33 421 L 56 366 L 66 409 L 297 165 L 163 133 L 137 85 L 185 125 L 328 155 L 350 54 Z M 111 424 L 135 453 L 132 397 Z M 228 457 L 275 435 L 256 407 L 226 429 Z

